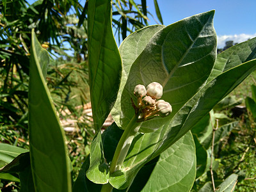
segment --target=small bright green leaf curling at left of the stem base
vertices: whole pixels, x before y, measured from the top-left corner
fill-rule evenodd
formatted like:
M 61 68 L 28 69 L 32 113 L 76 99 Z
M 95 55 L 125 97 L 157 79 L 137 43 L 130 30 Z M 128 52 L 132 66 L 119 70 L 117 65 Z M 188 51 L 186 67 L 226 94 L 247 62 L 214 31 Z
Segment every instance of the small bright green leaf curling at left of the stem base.
M 109 167 L 105 162 L 100 132 L 94 137 L 91 145 L 90 168 L 86 172 L 88 179 L 97 184 L 106 184 L 109 179 Z

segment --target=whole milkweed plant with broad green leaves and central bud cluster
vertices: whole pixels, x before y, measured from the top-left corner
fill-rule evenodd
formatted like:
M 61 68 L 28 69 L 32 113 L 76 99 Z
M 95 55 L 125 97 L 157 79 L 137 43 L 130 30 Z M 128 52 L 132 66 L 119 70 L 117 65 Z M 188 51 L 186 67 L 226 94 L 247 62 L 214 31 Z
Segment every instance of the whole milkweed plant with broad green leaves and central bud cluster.
M 147 26 L 118 48 L 111 1 L 88 6 L 90 156 L 72 181 L 65 134 L 45 83 L 49 56 L 32 31 L 29 152 L 17 152 L 0 172 L 19 173 L 20 191 L 190 191 L 196 178 L 190 130 L 255 70 L 256 39 L 217 56 L 212 10 Z M 109 113 L 115 122 L 102 132 Z

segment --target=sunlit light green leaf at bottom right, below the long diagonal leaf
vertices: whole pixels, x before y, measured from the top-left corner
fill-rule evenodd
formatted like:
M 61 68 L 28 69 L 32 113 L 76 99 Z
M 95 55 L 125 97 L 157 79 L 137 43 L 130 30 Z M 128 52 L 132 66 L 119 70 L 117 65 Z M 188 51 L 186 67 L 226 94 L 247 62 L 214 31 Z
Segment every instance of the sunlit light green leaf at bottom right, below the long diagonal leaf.
M 160 155 L 142 191 L 190 191 L 195 173 L 195 144 L 188 132 Z

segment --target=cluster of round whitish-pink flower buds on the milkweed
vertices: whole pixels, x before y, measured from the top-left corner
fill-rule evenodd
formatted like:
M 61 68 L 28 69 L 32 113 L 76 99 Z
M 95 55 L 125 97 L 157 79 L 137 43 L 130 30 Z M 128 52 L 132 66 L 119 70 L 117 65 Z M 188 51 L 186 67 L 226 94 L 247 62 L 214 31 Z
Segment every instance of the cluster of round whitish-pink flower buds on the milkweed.
M 157 100 L 163 96 L 163 86 L 157 82 L 144 85 L 138 84 L 134 88 L 137 104 L 133 107 L 138 114 L 138 121 L 142 122 L 154 116 L 168 116 L 172 113 L 172 106 L 164 100 Z

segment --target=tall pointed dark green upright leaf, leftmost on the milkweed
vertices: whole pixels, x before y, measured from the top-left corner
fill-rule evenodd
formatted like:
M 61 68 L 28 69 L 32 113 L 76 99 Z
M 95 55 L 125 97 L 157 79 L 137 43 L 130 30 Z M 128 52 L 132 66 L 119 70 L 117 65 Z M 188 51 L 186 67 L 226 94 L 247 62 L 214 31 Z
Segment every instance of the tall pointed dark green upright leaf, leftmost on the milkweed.
M 32 31 L 29 72 L 29 149 L 36 191 L 71 191 L 64 132 L 41 68 L 49 56 Z M 40 62 L 40 63 L 39 63 Z

